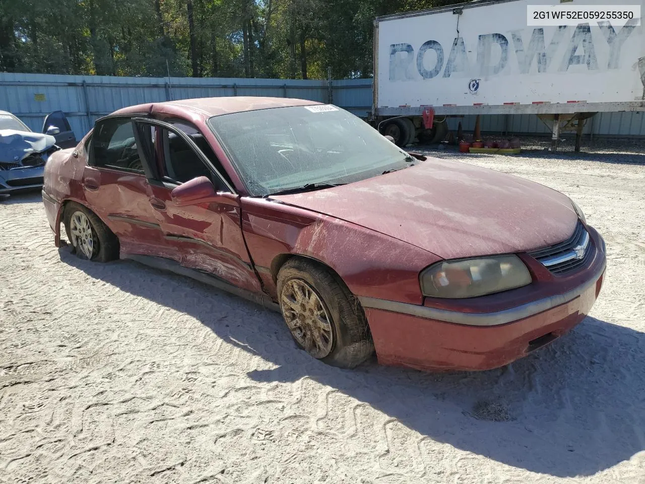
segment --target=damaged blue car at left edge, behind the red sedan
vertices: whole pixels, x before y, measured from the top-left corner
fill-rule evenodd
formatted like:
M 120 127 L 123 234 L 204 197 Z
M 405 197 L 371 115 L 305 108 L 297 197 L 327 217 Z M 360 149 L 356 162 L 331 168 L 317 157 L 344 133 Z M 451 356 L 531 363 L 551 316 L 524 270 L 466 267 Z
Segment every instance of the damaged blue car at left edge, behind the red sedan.
M 35 133 L 10 112 L 0 111 L 0 195 L 43 187 L 47 158 L 60 148 L 76 145 L 65 115 L 45 117 L 43 133 Z

